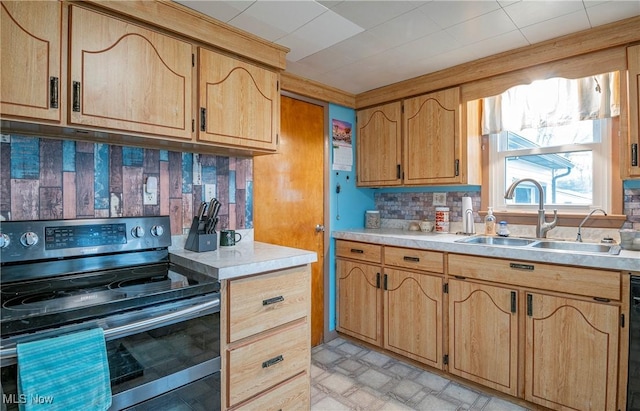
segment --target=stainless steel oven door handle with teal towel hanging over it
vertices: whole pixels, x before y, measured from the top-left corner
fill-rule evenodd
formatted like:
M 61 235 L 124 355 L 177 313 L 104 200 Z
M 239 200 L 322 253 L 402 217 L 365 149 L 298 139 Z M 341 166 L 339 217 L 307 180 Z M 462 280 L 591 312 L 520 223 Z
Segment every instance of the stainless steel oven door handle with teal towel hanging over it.
M 165 323 L 179 320 L 183 317 L 188 317 L 191 314 L 198 313 L 200 311 L 210 310 L 220 307 L 220 298 L 214 298 L 211 301 L 207 301 L 202 304 L 193 305 L 185 308 L 184 310 L 178 310 L 169 314 L 159 315 L 157 317 L 147 318 L 146 320 L 136 321 L 130 324 L 122 325 L 120 327 L 108 328 L 104 331 L 104 339 L 112 340 L 116 338 L 125 337 L 127 335 L 148 331 L 158 326 L 162 326 Z M 15 359 L 18 356 L 16 347 L 2 348 L 0 349 L 0 361 Z

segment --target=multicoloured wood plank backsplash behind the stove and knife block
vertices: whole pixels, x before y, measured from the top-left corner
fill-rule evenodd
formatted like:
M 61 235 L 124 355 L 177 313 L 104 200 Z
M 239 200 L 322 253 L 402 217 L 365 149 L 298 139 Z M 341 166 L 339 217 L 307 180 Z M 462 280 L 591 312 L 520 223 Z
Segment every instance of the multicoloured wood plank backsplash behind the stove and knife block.
M 158 202 L 144 187 L 158 179 Z M 222 203 L 219 228 L 253 228 L 253 160 L 101 143 L 3 135 L 0 219 L 169 215 L 188 232 L 205 187 Z

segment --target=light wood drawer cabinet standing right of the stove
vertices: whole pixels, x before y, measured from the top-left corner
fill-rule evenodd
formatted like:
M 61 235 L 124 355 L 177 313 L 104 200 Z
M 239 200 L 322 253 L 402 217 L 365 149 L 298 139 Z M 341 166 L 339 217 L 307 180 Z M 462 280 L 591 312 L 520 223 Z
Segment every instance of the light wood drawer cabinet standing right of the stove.
M 295 409 L 310 403 L 311 269 L 223 280 L 222 409 Z

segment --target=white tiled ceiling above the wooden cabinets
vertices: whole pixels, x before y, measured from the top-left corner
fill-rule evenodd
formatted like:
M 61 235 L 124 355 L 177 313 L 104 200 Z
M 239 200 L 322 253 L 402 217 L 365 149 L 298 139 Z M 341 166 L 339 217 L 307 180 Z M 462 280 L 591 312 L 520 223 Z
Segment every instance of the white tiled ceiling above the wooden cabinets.
M 287 72 L 353 94 L 640 15 L 637 0 L 178 3 L 290 48 Z

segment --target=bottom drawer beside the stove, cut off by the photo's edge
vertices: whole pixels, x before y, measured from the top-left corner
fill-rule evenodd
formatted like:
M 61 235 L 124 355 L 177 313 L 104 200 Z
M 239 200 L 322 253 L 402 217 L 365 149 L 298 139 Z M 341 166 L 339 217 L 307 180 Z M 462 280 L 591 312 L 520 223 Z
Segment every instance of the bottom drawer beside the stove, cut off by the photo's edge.
M 266 393 L 234 408 L 243 411 L 294 411 L 311 408 L 309 374 L 303 372 Z

